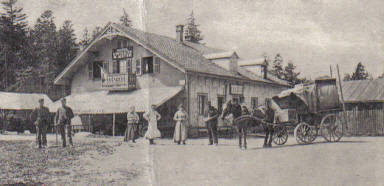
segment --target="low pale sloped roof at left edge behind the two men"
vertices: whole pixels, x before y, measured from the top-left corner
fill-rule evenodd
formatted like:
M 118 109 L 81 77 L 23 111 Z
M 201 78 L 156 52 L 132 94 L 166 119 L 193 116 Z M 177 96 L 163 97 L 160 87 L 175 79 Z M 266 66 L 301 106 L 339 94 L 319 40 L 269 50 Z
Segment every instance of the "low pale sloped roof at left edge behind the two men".
M 0 92 L 0 109 L 32 110 L 39 106 L 39 99 L 44 99 L 45 105 L 52 103 L 45 94 Z

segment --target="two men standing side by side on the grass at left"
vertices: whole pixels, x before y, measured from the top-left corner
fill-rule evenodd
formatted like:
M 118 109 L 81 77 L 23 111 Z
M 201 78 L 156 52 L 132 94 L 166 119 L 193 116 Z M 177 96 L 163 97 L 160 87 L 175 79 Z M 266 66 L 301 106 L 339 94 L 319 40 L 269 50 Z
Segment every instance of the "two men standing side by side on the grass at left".
M 32 111 L 30 117 L 31 121 L 34 121 L 34 125 L 36 127 L 36 141 L 39 148 L 47 147 L 47 130 L 51 122 L 51 117 L 49 109 L 44 106 L 44 99 L 39 100 L 39 107 Z M 66 105 L 65 98 L 61 99 L 61 107 L 57 109 L 54 123 L 57 130 L 56 132 L 61 135 L 63 147 L 66 147 L 67 145 L 65 135 L 66 130 L 69 144 L 73 146 L 71 129 L 71 119 L 73 117 L 73 111 Z

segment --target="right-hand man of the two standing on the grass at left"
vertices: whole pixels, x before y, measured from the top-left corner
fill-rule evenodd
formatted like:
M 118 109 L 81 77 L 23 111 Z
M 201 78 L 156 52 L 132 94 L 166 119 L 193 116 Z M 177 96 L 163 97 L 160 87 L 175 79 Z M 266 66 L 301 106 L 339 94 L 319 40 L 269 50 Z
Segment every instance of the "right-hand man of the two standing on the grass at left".
M 63 141 L 63 147 L 66 147 L 65 140 L 65 129 L 67 129 L 67 136 L 69 144 L 73 146 L 72 143 L 72 127 L 71 119 L 74 117 L 72 109 L 66 105 L 67 101 L 65 98 L 61 99 L 61 107 L 57 109 L 55 115 L 55 122 L 59 133 L 61 134 L 61 139 Z

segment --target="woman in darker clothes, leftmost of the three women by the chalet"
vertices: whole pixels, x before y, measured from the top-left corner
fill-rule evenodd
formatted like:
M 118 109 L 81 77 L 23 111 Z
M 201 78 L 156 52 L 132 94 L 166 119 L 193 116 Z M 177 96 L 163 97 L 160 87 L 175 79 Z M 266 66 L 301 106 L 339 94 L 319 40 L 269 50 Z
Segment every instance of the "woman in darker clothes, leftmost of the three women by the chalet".
M 130 111 L 127 113 L 127 130 L 125 131 L 124 141 L 132 140 L 135 143 L 139 120 L 140 117 L 135 112 L 135 106 L 131 106 Z

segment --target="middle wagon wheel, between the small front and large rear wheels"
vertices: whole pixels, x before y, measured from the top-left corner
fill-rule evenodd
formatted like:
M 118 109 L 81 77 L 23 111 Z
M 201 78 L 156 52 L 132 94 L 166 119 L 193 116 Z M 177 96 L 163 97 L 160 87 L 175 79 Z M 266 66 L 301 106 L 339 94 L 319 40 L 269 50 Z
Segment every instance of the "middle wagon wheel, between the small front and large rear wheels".
M 307 123 L 302 122 L 295 128 L 296 141 L 299 144 L 312 143 L 317 137 L 317 130 Z

